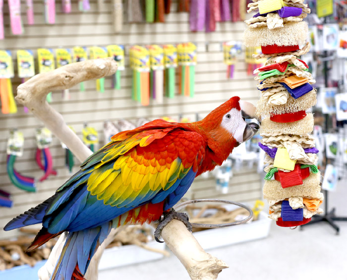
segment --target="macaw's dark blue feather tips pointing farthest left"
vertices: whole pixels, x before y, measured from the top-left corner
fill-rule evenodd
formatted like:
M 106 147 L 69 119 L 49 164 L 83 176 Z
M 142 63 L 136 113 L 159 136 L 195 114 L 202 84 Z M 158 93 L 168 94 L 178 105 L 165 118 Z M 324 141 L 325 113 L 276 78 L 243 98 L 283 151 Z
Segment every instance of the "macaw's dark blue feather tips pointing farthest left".
M 18 227 L 23 227 L 31 224 L 40 224 L 42 223 L 42 219 L 45 216 L 46 210 L 50 201 L 53 199 L 53 196 L 39 204 L 38 206 L 25 211 L 24 214 L 20 214 L 16 218 L 13 218 L 10 222 L 8 222 L 4 230 L 11 230 Z

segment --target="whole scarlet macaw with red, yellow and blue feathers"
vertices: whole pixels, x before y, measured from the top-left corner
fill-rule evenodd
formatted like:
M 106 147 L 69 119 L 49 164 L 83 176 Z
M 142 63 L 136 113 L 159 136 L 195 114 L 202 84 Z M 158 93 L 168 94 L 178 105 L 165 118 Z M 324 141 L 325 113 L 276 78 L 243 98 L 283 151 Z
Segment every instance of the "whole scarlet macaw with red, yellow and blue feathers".
M 120 132 L 91 155 L 56 193 L 10 221 L 4 230 L 31 224 L 42 229 L 29 246 L 34 250 L 65 232 L 66 241 L 51 280 L 83 280 L 91 258 L 112 228 L 188 217 L 173 206 L 194 178 L 228 158 L 240 142 L 259 129 L 255 107 L 232 97 L 193 123 L 156 119 Z

